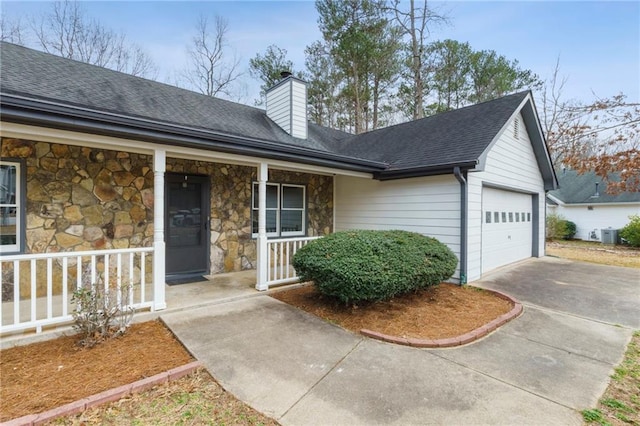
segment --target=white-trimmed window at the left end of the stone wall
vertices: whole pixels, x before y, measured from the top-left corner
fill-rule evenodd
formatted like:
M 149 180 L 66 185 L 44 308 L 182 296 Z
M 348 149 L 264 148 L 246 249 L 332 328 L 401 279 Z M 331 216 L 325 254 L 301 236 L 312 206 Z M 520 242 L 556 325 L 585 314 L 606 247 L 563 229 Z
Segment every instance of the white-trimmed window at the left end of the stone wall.
M 0 253 L 20 252 L 22 164 L 0 161 Z

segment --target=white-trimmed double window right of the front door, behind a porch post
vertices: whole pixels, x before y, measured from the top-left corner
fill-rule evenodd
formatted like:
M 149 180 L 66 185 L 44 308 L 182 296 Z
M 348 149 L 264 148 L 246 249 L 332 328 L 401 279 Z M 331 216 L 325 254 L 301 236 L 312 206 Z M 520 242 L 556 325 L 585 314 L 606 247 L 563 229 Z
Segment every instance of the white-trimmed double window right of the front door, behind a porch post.
M 251 233 L 258 236 L 258 183 L 253 183 Z M 267 236 L 305 235 L 307 216 L 306 187 L 285 183 L 267 183 Z

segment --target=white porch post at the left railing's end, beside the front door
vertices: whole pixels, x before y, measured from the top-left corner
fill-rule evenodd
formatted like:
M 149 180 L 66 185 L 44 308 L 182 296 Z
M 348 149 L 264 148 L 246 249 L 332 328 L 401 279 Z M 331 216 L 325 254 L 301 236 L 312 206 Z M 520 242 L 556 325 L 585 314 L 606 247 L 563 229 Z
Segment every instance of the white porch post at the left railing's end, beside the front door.
M 166 309 L 165 243 L 164 243 L 164 172 L 167 153 L 156 149 L 153 153 L 153 310 Z

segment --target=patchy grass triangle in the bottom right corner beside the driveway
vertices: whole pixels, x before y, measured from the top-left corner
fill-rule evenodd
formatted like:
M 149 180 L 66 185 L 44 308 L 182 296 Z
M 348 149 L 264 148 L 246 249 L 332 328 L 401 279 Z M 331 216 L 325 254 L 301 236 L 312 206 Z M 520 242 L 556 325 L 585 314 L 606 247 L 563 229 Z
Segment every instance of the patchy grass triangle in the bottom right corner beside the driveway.
M 586 424 L 640 425 L 640 331 L 636 331 L 624 359 L 596 408 L 582 410 Z

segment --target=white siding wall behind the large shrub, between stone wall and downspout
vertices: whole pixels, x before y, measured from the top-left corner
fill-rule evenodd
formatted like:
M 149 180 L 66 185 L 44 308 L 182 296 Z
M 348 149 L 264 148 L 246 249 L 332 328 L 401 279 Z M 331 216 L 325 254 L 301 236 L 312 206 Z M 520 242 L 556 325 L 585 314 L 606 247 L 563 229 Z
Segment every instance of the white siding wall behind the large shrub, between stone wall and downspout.
M 392 181 L 336 176 L 335 230 L 401 229 L 437 238 L 460 256 L 460 184 L 452 175 Z M 454 280 L 459 277 L 456 268 Z

